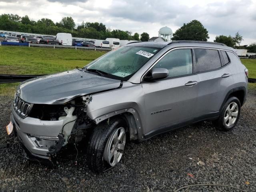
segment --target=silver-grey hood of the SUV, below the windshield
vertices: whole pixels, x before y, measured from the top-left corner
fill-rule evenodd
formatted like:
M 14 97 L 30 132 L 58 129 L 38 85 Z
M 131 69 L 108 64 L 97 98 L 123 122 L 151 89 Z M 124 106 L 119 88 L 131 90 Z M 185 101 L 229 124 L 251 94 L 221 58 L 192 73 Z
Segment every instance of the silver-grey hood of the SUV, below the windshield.
M 118 88 L 120 83 L 75 69 L 24 81 L 16 93 L 29 103 L 64 104 L 77 96 Z

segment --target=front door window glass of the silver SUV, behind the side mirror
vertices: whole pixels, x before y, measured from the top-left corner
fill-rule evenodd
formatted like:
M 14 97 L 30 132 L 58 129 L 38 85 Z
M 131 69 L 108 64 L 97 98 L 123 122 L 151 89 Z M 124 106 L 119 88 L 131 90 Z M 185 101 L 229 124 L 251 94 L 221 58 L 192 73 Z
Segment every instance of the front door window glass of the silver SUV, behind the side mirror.
M 168 77 L 192 74 L 191 49 L 177 49 L 164 56 L 154 68 L 166 68 L 169 70 Z

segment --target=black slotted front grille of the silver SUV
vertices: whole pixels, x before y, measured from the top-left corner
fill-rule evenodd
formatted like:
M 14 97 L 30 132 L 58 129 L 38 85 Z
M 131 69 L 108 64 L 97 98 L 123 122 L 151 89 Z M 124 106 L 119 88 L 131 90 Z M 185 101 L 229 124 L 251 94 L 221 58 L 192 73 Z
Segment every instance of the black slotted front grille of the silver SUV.
M 22 118 L 25 118 L 28 116 L 28 113 L 31 110 L 33 104 L 23 101 L 18 97 L 17 94 L 15 94 L 12 105 L 16 113 Z

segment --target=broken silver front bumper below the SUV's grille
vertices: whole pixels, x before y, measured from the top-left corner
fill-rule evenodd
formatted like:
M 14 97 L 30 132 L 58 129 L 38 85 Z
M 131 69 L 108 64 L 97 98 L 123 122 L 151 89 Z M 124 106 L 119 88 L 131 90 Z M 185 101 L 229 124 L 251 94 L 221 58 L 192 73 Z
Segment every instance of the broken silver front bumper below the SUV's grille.
M 21 118 L 18 116 L 18 114 L 16 114 L 13 108 L 10 119 L 14 125 L 18 139 L 27 150 L 27 154 L 29 153 L 35 158 L 50 159 L 50 156 L 58 152 L 62 147 L 64 140 L 59 133 L 62 130 L 63 120 L 42 121 L 40 119 L 31 117 Z M 34 138 L 31 137 L 31 135 L 40 137 L 45 136 L 47 138 L 53 138 L 53 140 L 58 141 L 54 146 L 42 147 L 36 144 Z M 50 139 L 44 140 L 44 142 L 47 141 L 52 142 Z

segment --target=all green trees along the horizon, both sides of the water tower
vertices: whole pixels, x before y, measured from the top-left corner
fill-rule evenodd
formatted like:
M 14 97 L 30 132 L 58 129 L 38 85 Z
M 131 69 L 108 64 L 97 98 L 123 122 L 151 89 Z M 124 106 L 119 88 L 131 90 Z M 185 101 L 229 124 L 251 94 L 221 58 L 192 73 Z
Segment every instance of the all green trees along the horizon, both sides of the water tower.
M 82 22 L 76 27 L 72 17 L 64 17 L 60 22 L 54 23 L 51 19 L 42 18 L 38 21 L 30 20 L 26 15 L 23 17 L 17 14 L 2 14 L 0 15 L 0 30 L 19 31 L 26 33 L 37 33 L 56 35 L 59 32 L 71 33 L 73 37 L 91 38 L 91 39 L 106 39 L 119 38 L 120 40 L 141 40 L 148 41 L 149 34 L 142 34 L 123 30 L 111 30 L 106 28 L 102 23 L 98 22 Z M 192 20 L 189 23 L 184 23 L 176 32 L 173 33 L 172 41 L 177 40 L 195 40 L 207 41 L 209 39 L 208 30 L 198 20 Z M 216 36 L 214 42 L 224 43 L 233 48 L 248 49 L 249 52 L 256 52 L 256 43 L 249 46 L 240 46 L 243 37 L 237 32 L 235 36 Z

